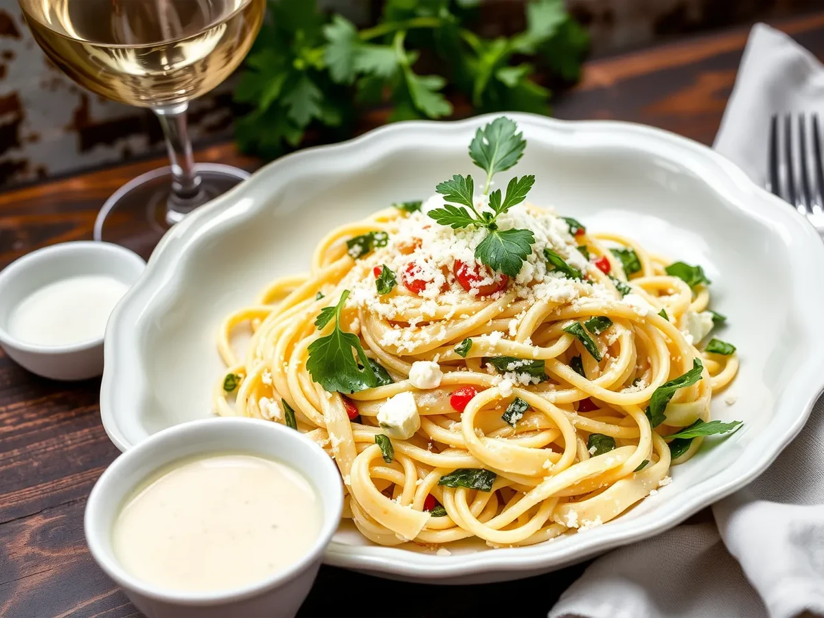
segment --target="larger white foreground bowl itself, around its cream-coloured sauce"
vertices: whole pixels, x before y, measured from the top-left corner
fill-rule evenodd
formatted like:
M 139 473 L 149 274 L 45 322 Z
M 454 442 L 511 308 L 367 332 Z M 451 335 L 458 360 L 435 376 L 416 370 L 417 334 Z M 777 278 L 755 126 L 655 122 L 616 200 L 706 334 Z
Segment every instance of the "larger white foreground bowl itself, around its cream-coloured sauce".
M 112 550 L 112 527 L 124 500 L 147 476 L 185 457 L 246 452 L 300 472 L 321 499 L 321 534 L 307 555 L 278 574 L 222 592 L 169 592 L 133 577 Z M 84 527 L 91 555 L 148 618 L 294 616 L 306 598 L 343 508 L 335 462 L 315 442 L 285 425 L 245 418 L 213 418 L 176 425 L 119 456 L 91 489 Z

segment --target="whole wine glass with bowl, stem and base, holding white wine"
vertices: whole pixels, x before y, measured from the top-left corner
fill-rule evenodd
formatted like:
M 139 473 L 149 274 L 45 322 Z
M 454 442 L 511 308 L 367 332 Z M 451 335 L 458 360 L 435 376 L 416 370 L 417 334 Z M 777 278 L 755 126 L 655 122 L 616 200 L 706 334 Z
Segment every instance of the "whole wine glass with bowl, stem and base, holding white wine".
M 246 56 L 265 0 L 20 0 L 35 40 L 64 73 L 101 96 L 152 110 L 170 166 L 131 180 L 106 200 L 95 239 L 147 257 L 171 225 L 249 175 L 195 163 L 189 101 Z

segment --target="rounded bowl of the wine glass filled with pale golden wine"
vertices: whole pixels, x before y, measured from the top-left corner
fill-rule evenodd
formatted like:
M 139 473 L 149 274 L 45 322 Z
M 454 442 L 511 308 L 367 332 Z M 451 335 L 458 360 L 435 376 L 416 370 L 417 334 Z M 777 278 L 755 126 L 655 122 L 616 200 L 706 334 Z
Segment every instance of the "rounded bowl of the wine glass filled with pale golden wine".
M 35 40 L 75 82 L 142 107 L 218 86 L 255 40 L 265 0 L 20 0 Z

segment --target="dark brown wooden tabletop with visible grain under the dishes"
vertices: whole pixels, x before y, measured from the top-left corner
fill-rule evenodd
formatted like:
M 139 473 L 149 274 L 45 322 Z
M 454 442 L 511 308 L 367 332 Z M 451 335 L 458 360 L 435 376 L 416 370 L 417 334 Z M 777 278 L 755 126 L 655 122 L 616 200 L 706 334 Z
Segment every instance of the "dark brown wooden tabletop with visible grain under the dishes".
M 776 26 L 824 58 L 824 12 Z M 555 101 L 555 115 L 632 120 L 712 143 L 746 40 L 742 28 L 592 61 L 578 87 Z M 376 112 L 368 122 L 381 120 Z M 229 143 L 198 158 L 258 165 Z M 40 246 L 90 239 L 105 198 L 163 164 L 136 162 L 0 194 L 0 268 Z M 35 377 L 0 352 L 0 616 L 139 616 L 83 539 L 91 485 L 118 455 L 101 425 L 99 387 L 99 380 Z M 324 567 L 300 615 L 511 616 L 517 601 L 518 615 L 545 616 L 582 569 L 495 584 L 491 594 L 490 585 L 459 590 Z M 347 605 L 349 590 L 371 601 Z

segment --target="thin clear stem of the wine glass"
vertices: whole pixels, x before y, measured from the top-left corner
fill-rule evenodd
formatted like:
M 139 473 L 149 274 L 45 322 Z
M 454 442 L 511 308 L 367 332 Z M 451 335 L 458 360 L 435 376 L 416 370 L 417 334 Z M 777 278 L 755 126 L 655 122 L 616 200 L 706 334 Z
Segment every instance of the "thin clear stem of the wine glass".
M 152 107 L 166 137 L 166 150 L 171 162 L 171 197 L 167 215 L 170 223 L 180 221 L 203 202 L 200 176 L 194 169 L 192 142 L 186 126 L 187 109 L 189 104 L 186 102 Z

